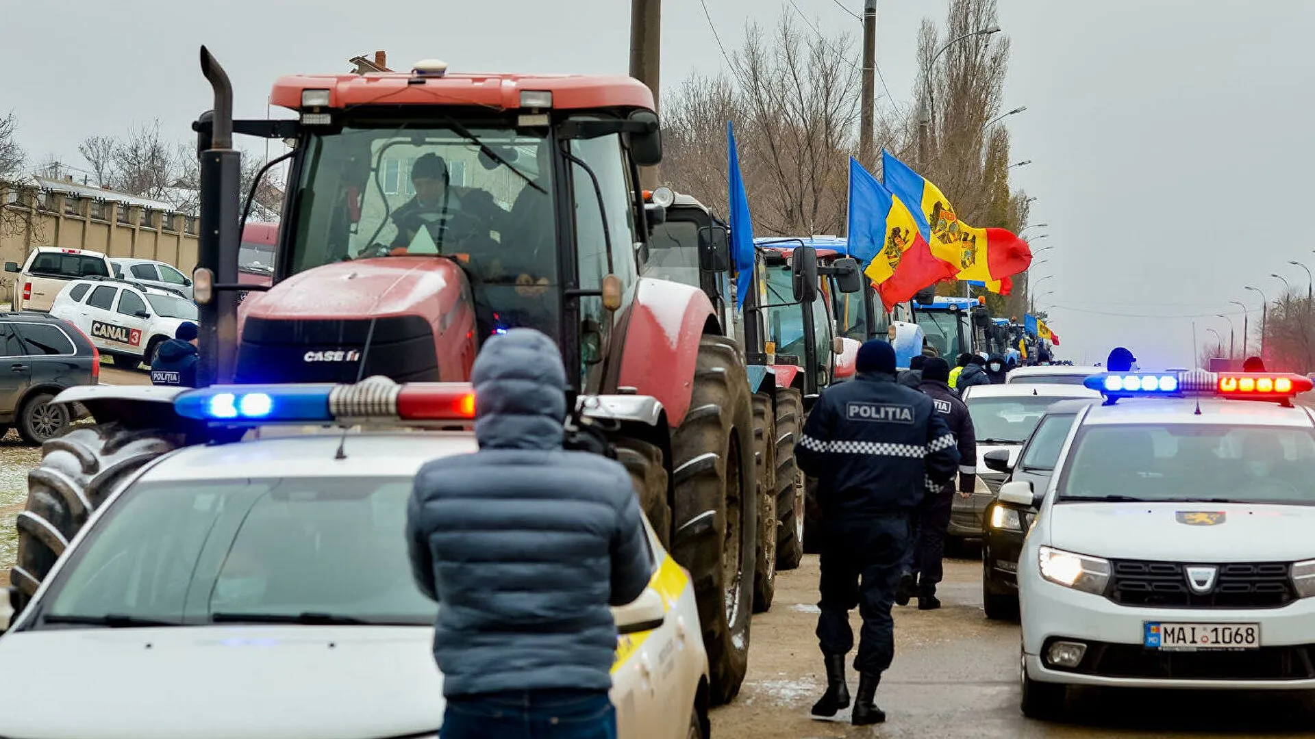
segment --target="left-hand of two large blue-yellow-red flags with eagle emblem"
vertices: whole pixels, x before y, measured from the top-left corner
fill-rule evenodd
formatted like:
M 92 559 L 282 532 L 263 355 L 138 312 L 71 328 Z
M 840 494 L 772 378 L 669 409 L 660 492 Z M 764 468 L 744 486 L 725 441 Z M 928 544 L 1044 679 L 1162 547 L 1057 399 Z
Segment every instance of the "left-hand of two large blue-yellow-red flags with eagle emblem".
M 955 264 L 932 255 L 909 208 L 849 158 L 848 252 L 864 266 L 881 302 L 898 302 L 955 275 Z

